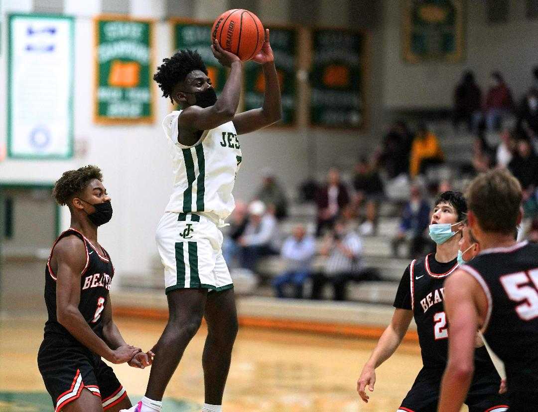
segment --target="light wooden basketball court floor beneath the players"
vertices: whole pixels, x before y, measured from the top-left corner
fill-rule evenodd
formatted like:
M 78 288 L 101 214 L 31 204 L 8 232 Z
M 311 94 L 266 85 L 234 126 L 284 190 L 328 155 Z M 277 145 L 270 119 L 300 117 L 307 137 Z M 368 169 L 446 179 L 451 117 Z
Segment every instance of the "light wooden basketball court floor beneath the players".
M 162 320 L 117 317 L 126 341 L 150 348 Z M 3 317 L 0 324 L 0 411 L 52 410 L 37 369 L 44 319 Z M 203 402 L 202 326 L 166 392 L 165 411 L 198 411 Z M 224 394 L 226 412 L 395 411 L 421 366 L 416 343 L 405 343 L 377 371 L 370 403 L 359 401 L 356 380 L 374 340 L 267 329 L 240 329 Z M 132 400 L 144 394 L 149 369 L 114 367 Z M 466 410 L 466 409 L 464 409 Z

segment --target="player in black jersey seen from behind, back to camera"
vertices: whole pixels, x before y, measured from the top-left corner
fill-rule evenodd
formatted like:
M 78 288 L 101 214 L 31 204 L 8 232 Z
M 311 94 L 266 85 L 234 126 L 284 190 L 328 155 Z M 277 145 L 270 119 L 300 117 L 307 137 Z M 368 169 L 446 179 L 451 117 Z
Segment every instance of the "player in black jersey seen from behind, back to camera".
M 439 409 L 459 411 L 473 376 L 472 335 L 504 362 L 509 410 L 538 410 L 538 246 L 516 243 L 521 185 L 495 169 L 469 186 L 469 227 L 481 252 L 445 284 L 449 359 Z M 476 375 L 476 372 L 475 372 Z

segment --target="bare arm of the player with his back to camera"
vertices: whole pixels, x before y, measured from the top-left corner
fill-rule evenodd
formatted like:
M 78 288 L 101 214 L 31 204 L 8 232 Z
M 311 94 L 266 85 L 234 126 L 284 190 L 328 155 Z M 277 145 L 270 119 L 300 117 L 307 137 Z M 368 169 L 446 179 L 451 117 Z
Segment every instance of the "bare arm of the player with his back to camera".
M 459 412 L 471 385 L 476 331 L 482 323 L 475 298 L 477 292 L 483 295 L 477 282 L 463 270 L 456 271 L 445 282 L 444 307 L 450 339 L 438 407 L 442 412 Z

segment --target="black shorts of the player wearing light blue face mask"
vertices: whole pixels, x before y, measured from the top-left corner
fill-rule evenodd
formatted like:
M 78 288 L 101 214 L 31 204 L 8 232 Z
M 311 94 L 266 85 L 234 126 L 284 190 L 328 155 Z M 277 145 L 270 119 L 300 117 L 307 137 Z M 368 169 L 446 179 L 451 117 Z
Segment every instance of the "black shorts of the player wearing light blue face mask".
M 436 412 L 441 395 L 443 369 L 422 368 L 415 383 L 402 401 L 399 412 Z M 500 379 L 477 372 L 465 404 L 469 412 L 504 412 L 508 410 L 508 398 L 499 395 Z

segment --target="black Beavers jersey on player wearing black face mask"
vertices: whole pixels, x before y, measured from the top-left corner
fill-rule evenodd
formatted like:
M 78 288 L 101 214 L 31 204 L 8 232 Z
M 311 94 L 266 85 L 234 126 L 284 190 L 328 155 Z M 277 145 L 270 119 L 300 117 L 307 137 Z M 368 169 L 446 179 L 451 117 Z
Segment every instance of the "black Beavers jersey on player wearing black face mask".
M 84 242 L 86 247 L 86 266 L 80 274 L 80 303 L 79 311 L 88 322 L 91 329 L 102 337 L 103 325 L 101 312 L 107 304 L 110 283 L 114 276 L 114 266 L 110 256 L 103 248 L 104 256 L 82 233 L 69 228 L 54 242 L 45 269 L 45 304 L 47 306 L 48 320 L 45 323 L 45 339 L 63 337 L 79 343 L 68 331 L 58 323 L 56 318 L 56 275 L 51 268 L 51 257 L 56 243 L 65 236 L 75 235 Z M 80 344 L 80 343 L 79 343 Z

